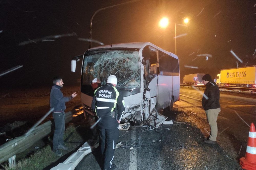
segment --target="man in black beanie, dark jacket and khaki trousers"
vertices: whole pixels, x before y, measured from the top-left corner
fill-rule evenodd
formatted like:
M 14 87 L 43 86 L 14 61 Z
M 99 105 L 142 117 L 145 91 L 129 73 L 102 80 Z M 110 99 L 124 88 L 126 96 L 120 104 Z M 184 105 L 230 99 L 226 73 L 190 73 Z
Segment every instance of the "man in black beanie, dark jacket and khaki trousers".
M 202 77 L 206 88 L 202 98 L 202 106 L 205 110 L 207 120 L 211 128 L 211 134 L 208 140 L 204 142 L 207 144 L 217 144 L 217 118 L 220 112 L 220 89 L 217 84 L 212 81 L 211 76 L 206 74 Z

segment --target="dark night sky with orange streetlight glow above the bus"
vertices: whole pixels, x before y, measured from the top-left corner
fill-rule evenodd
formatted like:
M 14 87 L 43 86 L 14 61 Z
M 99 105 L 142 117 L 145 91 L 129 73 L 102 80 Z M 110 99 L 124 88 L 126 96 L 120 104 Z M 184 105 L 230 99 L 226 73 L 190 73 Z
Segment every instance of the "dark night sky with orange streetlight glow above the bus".
M 56 75 L 65 84 L 77 84 L 80 68 L 72 73 L 70 60 L 89 48 L 78 38 L 89 38 L 96 10 L 124 2 L 128 0 L 0 1 L 0 73 L 23 65 L 0 77 L 1 86 L 51 86 Z M 187 34 L 177 38 L 181 79 L 191 73 L 215 77 L 221 69 L 237 67 L 231 49 L 243 61 L 238 61 L 239 67 L 256 65 L 255 4 L 252 0 L 138 0 L 97 13 L 92 38 L 105 45 L 148 41 L 174 53 L 176 23 L 177 35 Z M 170 21 L 165 30 L 158 26 L 163 16 Z M 184 17 L 190 18 L 188 26 L 180 25 Z M 212 57 L 196 56 L 200 54 Z

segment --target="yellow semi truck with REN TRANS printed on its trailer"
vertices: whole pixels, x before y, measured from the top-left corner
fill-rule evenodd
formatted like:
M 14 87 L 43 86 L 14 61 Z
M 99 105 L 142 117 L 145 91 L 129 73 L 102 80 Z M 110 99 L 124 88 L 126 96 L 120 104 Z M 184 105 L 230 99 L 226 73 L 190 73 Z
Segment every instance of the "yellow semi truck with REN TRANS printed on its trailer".
M 220 70 L 216 84 L 218 86 L 255 87 L 256 66 Z

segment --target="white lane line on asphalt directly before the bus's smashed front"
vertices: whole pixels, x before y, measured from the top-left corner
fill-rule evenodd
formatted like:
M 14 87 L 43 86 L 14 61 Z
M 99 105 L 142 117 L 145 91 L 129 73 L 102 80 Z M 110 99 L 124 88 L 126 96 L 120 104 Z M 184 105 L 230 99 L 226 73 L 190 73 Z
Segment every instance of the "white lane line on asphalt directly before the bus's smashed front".
M 136 144 L 136 127 L 131 132 L 131 139 Z M 137 170 L 137 149 L 134 147 L 130 152 L 129 170 Z

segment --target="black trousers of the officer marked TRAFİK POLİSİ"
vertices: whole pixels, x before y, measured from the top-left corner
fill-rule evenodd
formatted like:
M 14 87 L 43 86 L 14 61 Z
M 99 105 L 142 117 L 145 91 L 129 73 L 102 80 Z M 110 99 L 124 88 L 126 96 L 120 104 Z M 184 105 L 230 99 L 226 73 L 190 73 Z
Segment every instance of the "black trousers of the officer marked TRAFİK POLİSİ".
M 114 159 L 115 145 L 119 137 L 119 129 L 118 126 L 110 129 L 99 127 L 99 131 L 101 153 L 104 158 L 104 170 L 110 169 Z

